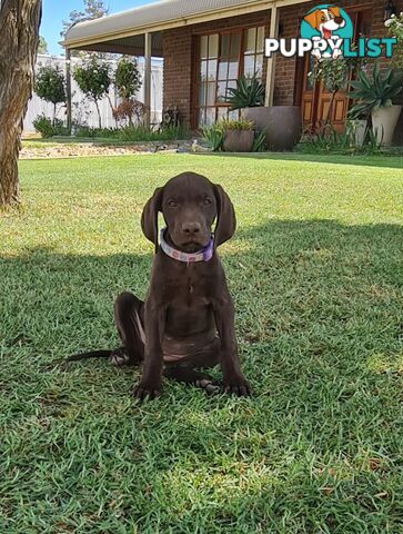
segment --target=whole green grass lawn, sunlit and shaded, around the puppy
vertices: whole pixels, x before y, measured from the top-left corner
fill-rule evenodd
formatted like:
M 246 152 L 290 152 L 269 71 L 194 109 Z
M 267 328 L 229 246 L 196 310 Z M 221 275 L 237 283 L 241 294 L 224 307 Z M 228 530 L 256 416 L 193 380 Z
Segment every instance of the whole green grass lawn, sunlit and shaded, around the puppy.
M 314 159 L 314 161 L 310 161 Z M 221 248 L 250 399 L 53 364 L 118 345 L 145 294 L 142 206 L 184 170 L 238 212 Z M 0 532 L 403 532 L 403 159 L 21 161 L 0 215 Z M 216 373 L 219 376 L 219 373 Z

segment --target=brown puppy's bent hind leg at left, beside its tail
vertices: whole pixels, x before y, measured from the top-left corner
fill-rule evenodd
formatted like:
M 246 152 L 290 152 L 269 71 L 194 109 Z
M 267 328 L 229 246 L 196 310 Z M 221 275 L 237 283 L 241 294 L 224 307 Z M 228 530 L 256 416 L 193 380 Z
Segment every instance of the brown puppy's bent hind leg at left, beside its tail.
M 123 344 L 109 358 L 115 366 L 139 365 L 144 358 L 143 305 L 132 293 L 122 293 L 114 303 L 114 320 Z

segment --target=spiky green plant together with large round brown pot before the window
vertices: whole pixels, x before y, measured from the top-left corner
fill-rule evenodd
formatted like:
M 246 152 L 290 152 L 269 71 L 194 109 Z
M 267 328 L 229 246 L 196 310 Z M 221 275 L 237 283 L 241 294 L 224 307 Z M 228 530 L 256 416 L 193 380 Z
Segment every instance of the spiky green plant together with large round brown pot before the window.
M 229 89 L 226 98 L 231 110 L 243 109 L 243 117 L 252 120 L 272 150 L 291 150 L 302 134 L 302 117 L 299 106 L 264 106 L 264 86 L 255 78 L 242 76 L 236 87 Z

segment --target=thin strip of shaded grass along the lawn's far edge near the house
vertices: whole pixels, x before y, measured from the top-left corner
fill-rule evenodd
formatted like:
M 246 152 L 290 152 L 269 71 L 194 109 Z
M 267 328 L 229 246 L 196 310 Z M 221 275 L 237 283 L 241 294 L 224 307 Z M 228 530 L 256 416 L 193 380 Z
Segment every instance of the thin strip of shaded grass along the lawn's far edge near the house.
M 198 156 L 213 156 L 216 158 L 253 158 L 271 159 L 273 161 L 310 161 L 329 165 L 357 165 L 360 167 L 381 167 L 403 169 L 403 154 L 345 156 L 335 154 L 303 154 L 303 152 L 197 152 Z

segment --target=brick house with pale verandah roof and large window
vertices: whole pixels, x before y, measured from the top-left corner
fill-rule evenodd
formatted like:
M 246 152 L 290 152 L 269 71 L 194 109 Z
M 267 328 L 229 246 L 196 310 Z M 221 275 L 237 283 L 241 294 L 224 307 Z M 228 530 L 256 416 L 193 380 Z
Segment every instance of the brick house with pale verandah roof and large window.
M 178 106 L 181 121 L 191 129 L 229 115 L 225 91 L 242 73 L 256 73 L 262 80 L 266 105 L 301 106 L 304 123 L 318 125 L 328 113 L 330 95 L 308 79 L 311 55 L 263 55 L 265 37 L 299 37 L 302 17 L 318 4 L 304 0 L 164 0 L 78 23 L 63 46 L 67 53 L 81 49 L 144 56 L 145 107 L 151 57 L 163 58 L 163 105 Z M 385 37 L 384 10 L 392 6 L 402 11 L 403 0 L 342 0 L 336 6 L 349 13 L 355 36 Z M 339 130 L 350 103 L 345 93 L 334 102 L 332 122 Z M 403 132 L 402 120 L 397 134 Z

